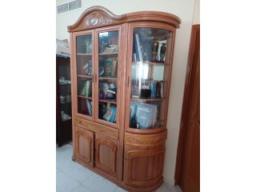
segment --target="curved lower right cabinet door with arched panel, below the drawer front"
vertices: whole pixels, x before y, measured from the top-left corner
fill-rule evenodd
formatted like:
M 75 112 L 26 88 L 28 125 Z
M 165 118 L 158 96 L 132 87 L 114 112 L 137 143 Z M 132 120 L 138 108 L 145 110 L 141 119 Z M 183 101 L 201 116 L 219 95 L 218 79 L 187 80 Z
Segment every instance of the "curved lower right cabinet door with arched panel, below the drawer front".
M 130 186 L 152 186 L 162 178 L 164 148 L 130 150 L 126 153 L 124 181 Z

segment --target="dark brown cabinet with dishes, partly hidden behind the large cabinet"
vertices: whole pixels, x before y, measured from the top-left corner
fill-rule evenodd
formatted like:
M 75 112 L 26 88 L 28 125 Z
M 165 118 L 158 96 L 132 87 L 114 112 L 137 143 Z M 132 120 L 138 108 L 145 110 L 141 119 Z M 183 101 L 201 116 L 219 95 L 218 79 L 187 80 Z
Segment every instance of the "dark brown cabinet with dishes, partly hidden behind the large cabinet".
M 70 58 L 56 57 L 56 141 L 72 139 Z

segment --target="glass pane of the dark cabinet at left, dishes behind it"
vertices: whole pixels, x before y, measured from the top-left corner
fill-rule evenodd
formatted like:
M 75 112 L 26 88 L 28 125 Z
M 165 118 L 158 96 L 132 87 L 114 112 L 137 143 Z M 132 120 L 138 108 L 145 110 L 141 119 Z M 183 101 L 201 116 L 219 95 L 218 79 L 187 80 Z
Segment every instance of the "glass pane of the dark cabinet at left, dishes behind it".
M 61 101 L 62 122 L 71 119 L 71 82 L 70 82 L 70 66 L 59 65 L 59 94 Z

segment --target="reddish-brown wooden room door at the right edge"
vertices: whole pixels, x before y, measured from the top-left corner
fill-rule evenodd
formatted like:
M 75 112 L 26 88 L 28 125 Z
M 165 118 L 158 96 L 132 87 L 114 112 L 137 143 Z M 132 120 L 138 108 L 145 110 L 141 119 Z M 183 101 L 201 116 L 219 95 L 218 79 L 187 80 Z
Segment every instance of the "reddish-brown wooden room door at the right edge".
M 192 27 L 175 179 L 183 192 L 200 191 L 200 26 Z M 178 157 L 178 158 L 179 158 Z M 177 166 L 176 166 L 177 167 Z M 179 172 L 179 173 L 178 173 Z M 178 178 L 176 178 L 178 177 Z

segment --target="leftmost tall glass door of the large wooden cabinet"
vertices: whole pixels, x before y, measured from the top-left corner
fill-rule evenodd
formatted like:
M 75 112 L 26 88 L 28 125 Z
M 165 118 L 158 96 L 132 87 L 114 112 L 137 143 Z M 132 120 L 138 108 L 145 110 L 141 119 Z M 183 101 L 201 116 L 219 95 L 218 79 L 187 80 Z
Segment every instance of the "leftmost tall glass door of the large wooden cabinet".
M 77 113 L 94 117 L 94 59 L 92 34 L 76 36 Z

